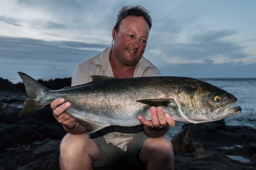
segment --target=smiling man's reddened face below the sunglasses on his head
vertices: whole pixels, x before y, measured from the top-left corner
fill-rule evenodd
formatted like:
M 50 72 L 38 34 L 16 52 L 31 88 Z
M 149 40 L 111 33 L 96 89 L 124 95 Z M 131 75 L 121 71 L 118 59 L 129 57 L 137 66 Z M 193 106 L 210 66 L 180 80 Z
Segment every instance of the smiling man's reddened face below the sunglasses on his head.
M 112 49 L 118 61 L 126 66 L 138 63 L 144 53 L 148 34 L 148 23 L 143 16 L 126 16 L 122 19 Z

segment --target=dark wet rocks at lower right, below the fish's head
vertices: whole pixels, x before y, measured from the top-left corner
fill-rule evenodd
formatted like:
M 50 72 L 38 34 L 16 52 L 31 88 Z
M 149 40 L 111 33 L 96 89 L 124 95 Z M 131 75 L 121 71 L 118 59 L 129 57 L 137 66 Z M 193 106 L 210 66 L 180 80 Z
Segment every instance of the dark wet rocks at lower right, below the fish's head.
M 185 124 L 172 144 L 177 169 L 256 169 L 256 130 L 251 127 L 226 126 L 224 120 Z

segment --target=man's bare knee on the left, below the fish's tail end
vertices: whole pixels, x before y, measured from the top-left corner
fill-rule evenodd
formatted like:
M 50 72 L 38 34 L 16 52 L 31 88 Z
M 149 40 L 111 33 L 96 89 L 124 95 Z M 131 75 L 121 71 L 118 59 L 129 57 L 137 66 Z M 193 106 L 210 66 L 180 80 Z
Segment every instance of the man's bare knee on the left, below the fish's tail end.
M 60 143 L 61 170 L 93 170 L 93 162 L 100 157 L 100 148 L 86 133 L 68 133 Z

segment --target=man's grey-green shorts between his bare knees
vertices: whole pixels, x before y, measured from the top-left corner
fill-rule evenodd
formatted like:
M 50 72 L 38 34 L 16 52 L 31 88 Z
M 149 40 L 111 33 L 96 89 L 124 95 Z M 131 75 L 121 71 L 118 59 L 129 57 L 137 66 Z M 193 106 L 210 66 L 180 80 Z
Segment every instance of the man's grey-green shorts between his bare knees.
M 132 141 L 127 144 L 127 151 L 122 151 L 120 148 L 112 145 L 111 143 L 106 143 L 106 140 L 101 133 L 92 133 L 90 137 L 98 144 L 101 153 L 100 158 L 94 162 L 94 167 L 104 167 L 110 166 L 124 160 L 129 162 L 134 166 L 145 168 L 146 165 L 142 164 L 139 160 L 139 151 L 142 147 L 142 144 L 148 139 L 148 136 L 144 131 L 140 131 L 134 136 Z

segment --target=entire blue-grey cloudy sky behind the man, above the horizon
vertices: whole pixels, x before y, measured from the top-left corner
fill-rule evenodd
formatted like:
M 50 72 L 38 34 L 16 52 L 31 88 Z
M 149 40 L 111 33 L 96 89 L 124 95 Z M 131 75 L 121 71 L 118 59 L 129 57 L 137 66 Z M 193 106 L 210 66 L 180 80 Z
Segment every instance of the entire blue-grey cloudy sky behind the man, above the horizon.
M 150 11 L 144 56 L 164 76 L 256 78 L 255 0 L 0 0 L 0 77 L 71 77 L 124 5 Z

